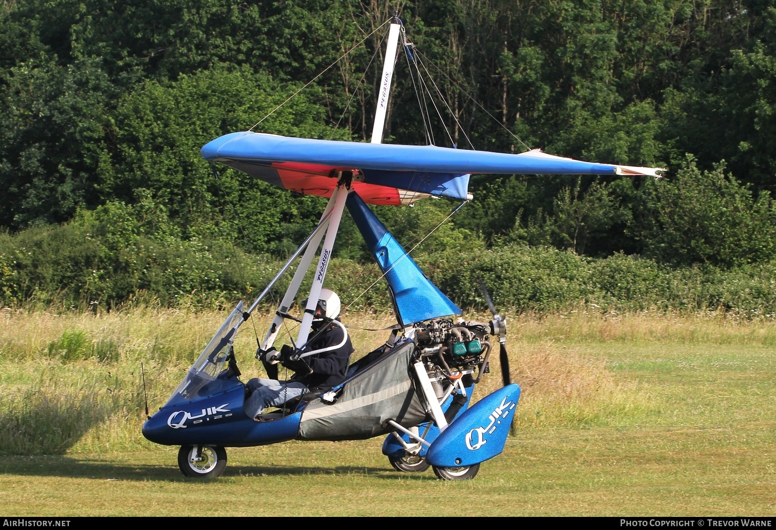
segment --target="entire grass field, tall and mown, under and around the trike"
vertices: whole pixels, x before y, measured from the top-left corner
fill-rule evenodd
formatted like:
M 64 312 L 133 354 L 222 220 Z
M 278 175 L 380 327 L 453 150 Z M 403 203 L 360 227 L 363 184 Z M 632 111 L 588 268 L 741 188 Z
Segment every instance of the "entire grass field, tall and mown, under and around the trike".
M 397 473 L 379 438 L 229 449 L 222 477 L 187 480 L 177 448 L 140 437 L 137 370 L 147 362 L 151 402 L 160 405 L 221 318 L 8 311 L 0 329 L 6 514 L 774 513 L 772 320 L 512 319 L 512 376 L 524 389 L 517 428 L 468 482 Z M 383 340 L 353 334 L 362 352 Z M 243 340 L 248 375 L 252 334 Z M 498 373 L 494 365 L 478 396 L 498 386 Z

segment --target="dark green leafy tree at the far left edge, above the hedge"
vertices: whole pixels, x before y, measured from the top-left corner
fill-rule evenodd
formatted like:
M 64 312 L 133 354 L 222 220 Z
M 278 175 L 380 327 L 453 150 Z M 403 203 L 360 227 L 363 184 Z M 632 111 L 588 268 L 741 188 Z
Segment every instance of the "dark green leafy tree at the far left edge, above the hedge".
M 40 58 L 10 68 L 2 81 L 0 225 L 61 223 L 79 205 L 99 204 L 113 95 L 99 61 L 60 66 Z

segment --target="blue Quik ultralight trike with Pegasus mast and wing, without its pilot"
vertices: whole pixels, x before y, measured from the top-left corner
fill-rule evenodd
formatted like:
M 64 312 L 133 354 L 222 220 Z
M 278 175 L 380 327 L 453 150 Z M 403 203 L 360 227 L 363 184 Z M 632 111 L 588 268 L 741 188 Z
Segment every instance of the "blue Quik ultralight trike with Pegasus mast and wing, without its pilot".
M 181 446 L 178 465 L 186 476 L 219 476 L 227 463 L 226 447 L 387 435 L 383 454 L 395 469 L 414 472 L 432 466 L 440 479 L 472 478 L 481 462 L 504 450 L 520 397 L 520 387 L 509 380 L 506 321 L 487 291 L 493 320 L 483 324 L 456 318 L 462 313 L 459 307 L 425 277 L 368 205 L 411 205 L 435 196 L 469 201 L 473 173 L 656 176 L 656 168 L 594 164 L 539 150 L 502 154 L 382 144 L 396 59 L 404 50 L 408 64 L 415 60 L 400 20 L 394 16 L 388 22 L 389 60 L 383 65 L 371 143 L 247 131 L 227 134 L 202 148 L 211 163 L 329 201 L 315 230 L 286 265 L 250 307 L 237 304 L 164 407 L 145 422 L 146 438 Z M 234 359 L 235 334 L 301 257 L 257 358 L 272 351 L 289 318 L 300 322 L 293 344 L 296 358 L 316 353 L 303 349 L 311 339 L 310 326 L 345 208 L 383 272 L 397 324 L 385 345 L 348 366 L 344 383 L 305 393 L 261 417 L 248 417 L 243 408 L 247 389 Z M 316 254 L 307 304 L 300 318 L 293 317 L 289 309 Z M 342 325 L 337 320 L 331 324 Z M 491 338 L 499 341 L 504 386 L 473 403 L 475 386 L 489 371 Z M 262 358 L 269 376 L 277 379 L 275 360 Z

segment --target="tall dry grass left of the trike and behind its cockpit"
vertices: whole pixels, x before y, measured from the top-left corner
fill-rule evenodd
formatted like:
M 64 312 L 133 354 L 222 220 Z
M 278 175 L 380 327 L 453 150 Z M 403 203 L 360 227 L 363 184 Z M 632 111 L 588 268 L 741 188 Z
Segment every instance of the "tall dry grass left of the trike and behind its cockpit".
M 133 308 L 126 312 L 5 310 L 0 324 L 2 452 L 61 454 L 151 447 L 140 435 L 144 363 L 151 411 L 167 400 L 219 327 L 225 313 Z M 271 317 L 258 315 L 263 334 Z M 358 313 L 357 327 L 386 327 L 385 316 Z M 287 335 L 286 329 L 284 334 Z M 359 353 L 387 332 L 352 330 Z M 286 339 L 283 334 L 279 340 Z M 245 375 L 261 375 L 255 335 L 243 327 L 235 342 Z

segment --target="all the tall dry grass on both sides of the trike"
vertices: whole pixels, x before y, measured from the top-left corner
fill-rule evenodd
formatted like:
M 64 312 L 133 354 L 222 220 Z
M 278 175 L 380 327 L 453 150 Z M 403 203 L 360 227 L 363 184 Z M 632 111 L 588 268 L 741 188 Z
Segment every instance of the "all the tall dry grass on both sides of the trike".
M 0 419 L 14 425 L 0 434 L 0 447 L 17 454 L 42 454 L 149 447 L 139 428 L 144 415 L 140 362 L 154 410 L 178 384 L 225 313 L 140 307 L 95 315 L 6 308 L 0 317 Z M 469 317 L 487 320 L 484 314 Z M 259 336 L 270 319 L 255 316 Z M 388 334 L 357 328 L 393 323 L 390 315 L 371 313 L 354 313 L 345 321 L 352 327 L 356 357 L 382 344 Z M 774 321 L 737 320 L 715 313 L 571 312 L 513 316 L 509 325 L 511 378 L 523 390 L 516 417 L 519 427 L 618 424 L 656 412 L 650 387 L 627 373 L 614 372 L 600 357 L 584 355 L 578 345 L 586 342 L 776 344 Z M 248 377 L 261 374 L 253 359 L 252 327 L 246 324 L 235 343 Z M 289 331 L 294 328 L 284 334 Z M 491 372 L 476 397 L 501 386 L 497 352 L 491 357 Z

